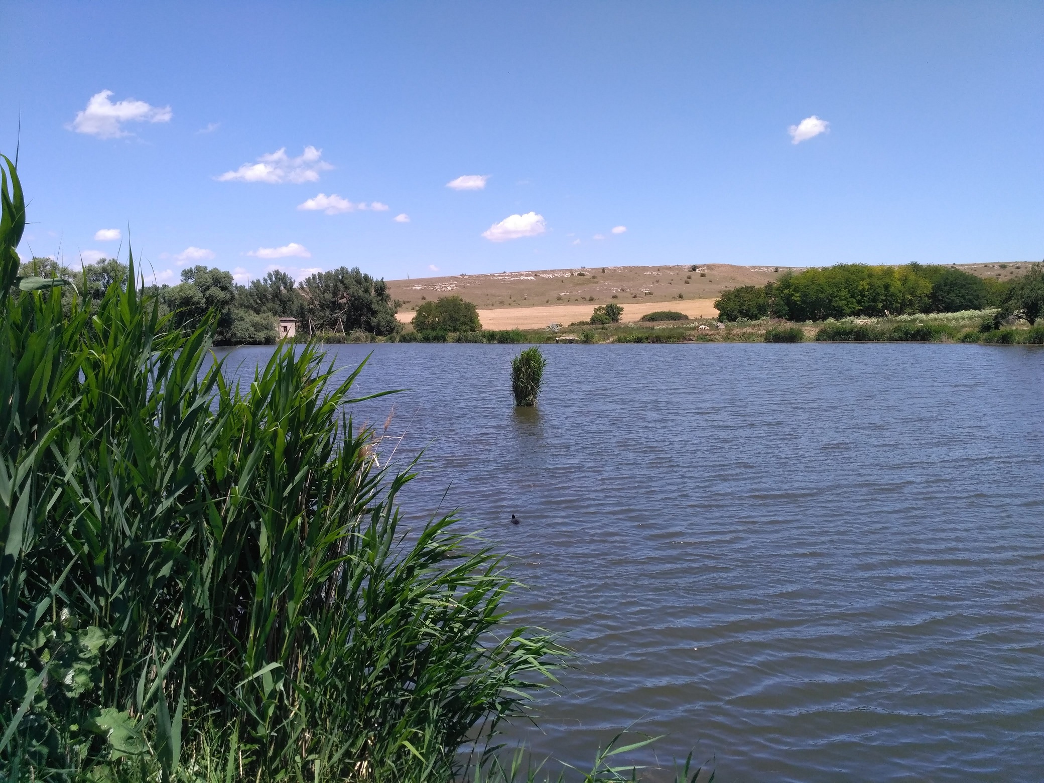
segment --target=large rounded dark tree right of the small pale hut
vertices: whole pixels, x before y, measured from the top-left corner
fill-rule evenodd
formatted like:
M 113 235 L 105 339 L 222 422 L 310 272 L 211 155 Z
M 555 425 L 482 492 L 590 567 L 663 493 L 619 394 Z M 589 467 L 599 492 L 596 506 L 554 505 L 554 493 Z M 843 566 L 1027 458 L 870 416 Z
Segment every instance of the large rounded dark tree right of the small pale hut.
M 395 332 L 399 303 L 393 302 L 387 284 L 359 270 L 341 266 L 321 271 L 298 286 L 302 296 L 299 319 L 309 333 L 341 332 L 355 329 L 371 334 Z

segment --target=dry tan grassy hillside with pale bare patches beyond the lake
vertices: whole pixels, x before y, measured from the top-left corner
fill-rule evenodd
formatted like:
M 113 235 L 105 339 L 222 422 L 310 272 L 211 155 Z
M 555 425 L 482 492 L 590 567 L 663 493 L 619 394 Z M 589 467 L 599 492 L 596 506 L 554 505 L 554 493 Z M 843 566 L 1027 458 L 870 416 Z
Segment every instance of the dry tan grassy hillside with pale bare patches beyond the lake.
M 964 271 L 1007 280 L 1022 274 L 1025 263 L 954 264 Z M 457 294 L 474 302 L 485 329 L 538 329 L 554 322 L 570 324 L 591 315 L 596 305 L 616 302 L 623 319 L 637 321 L 654 310 L 678 310 L 690 317 L 717 316 L 713 302 L 741 285 L 764 285 L 802 267 L 702 264 L 604 266 L 537 271 L 458 275 L 417 280 L 390 280 L 393 299 L 402 303 L 398 317 L 409 323 L 425 301 Z M 681 294 L 681 300 L 679 295 Z

